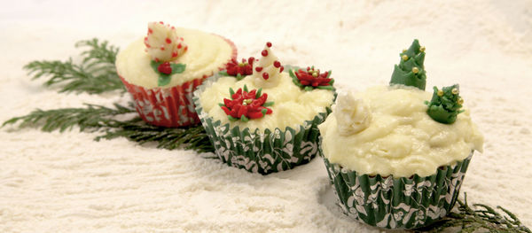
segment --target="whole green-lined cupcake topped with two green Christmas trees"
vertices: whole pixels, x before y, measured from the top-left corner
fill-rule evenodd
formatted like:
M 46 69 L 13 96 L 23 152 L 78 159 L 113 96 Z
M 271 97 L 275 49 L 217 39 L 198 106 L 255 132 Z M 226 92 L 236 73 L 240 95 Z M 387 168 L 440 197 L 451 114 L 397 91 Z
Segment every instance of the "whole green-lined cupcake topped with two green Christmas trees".
M 414 229 L 450 212 L 483 137 L 457 84 L 426 92 L 425 48 L 401 53 L 390 86 L 340 93 L 318 128 L 342 210 L 369 225 Z

